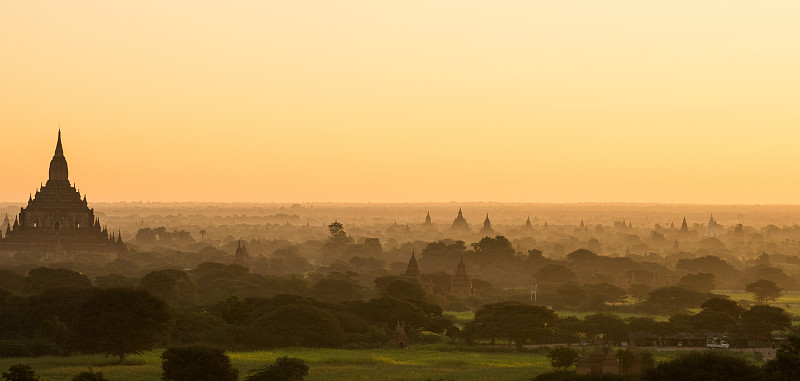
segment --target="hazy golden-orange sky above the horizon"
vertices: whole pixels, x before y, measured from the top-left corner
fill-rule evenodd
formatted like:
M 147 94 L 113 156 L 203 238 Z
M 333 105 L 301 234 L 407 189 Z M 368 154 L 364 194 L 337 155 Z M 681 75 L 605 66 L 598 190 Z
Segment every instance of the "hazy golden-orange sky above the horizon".
M 798 14 L 0 0 L 0 201 L 800 204 Z

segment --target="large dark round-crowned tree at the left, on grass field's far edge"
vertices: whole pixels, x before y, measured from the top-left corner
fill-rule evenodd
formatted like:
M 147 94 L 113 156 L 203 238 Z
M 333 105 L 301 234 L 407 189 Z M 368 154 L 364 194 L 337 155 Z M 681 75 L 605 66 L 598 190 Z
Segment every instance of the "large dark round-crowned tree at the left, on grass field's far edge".
M 152 349 L 167 334 L 169 307 L 143 290 L 99 290 L 83 303 L 75 324 L 78 346 L 125 361 L 128 354 Z

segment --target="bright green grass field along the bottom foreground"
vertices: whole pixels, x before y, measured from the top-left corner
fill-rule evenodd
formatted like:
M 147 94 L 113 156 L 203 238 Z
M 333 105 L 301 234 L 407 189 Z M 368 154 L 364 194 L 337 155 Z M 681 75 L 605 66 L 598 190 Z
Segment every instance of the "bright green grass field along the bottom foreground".
M 0 359 L 0 370 L 23 363 L 46 381 L 69 381 L 90 365 L 112 381 L 152 381 L 161 376 L 160 351 L 131 356 L 138 365 L 114 365 L 104 356 L 38 357 Z M 233 366 L 244 379 L 251 369 L 267 365 L 277 357 L 299 357 L 310 370 L 306 380 L 526 380 L 551 370 L 541 354 L 501 352 L 477 353 L 408 350 L 344 350 L 287 348 L 263 352 L 229 352 Z

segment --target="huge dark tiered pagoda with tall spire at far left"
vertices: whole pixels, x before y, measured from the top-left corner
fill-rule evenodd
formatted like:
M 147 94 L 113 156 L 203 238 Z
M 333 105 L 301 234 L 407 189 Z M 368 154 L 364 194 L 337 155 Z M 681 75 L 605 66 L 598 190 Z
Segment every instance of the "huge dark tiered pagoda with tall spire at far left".
M 60 130 L 47 183 L 28 198 L 28 205 L 20 208 L 13 224 L 4 225 L 0 254 L 8 256 L 33 253 L 41 254 L 44 262 L 59 262 L 69 261 L 78 253 L 113 258 L 128 252 L 121 234 L 109 234 L 94 209 L 88 207 L 86 196 L 81 197 L 70 184 Z

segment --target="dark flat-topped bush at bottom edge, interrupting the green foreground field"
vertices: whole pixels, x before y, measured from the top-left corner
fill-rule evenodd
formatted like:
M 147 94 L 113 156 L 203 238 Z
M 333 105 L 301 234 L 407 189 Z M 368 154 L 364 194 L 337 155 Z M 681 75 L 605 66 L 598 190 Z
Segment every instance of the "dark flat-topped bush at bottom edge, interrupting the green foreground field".
M 239 371 L 225 351 L 205 345 L 168 348 L 161 354 L 164 381 L 236 381 Z

